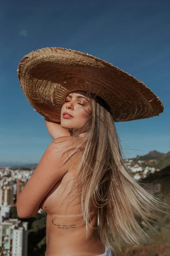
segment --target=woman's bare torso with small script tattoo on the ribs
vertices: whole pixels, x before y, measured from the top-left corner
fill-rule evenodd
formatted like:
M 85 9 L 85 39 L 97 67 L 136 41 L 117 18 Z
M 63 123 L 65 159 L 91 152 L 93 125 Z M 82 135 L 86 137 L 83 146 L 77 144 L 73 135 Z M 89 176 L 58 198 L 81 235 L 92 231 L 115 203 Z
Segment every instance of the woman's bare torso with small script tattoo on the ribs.
M 79 162 L 78 157 L 69 160 L 64 168 L 68 172 L 54 185 L 42 201 L 40 208 L 47 213 L 45 256 L 95 256 L 105 253 L 105 245 L 97 232 L 97 210 L 91 203 L 90 225 L 88 230 L 91 236 L 86 239 L 86 223 L 83 214 L 78 190 L 75 188 L 68 196 Z M 71 162 L 72 161 L 72 162 Z

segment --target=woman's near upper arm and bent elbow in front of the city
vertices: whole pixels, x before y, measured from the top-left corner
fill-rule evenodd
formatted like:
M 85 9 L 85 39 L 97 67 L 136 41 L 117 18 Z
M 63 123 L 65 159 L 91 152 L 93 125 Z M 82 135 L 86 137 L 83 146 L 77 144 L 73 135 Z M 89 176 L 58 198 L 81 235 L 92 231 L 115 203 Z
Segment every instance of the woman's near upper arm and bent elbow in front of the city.
M 67 168 L 63 167 L 63 155 L 68 139 L 70 140 L 71 137 L 65 136 L 54 140 L 44 152 L 17 199 L 17 214 L 20 218 L 33 217 L 39 211 L 45 196 L 68 172 Z

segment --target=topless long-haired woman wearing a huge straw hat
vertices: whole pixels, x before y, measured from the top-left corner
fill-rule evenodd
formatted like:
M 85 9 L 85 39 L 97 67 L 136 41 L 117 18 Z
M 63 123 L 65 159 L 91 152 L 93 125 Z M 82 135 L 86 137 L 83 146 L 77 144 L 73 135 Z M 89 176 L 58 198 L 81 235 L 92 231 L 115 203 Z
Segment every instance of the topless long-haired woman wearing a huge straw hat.
M 162 102 L 112 64 L 70 49 L 26 55 L 18 77 L 53 138 L 17 200 L 21 218 L 46 212 L 45 255 L 113 256 L 123 242 L 140 246 L 140 221 L 150 225 L 164 204 L 129 173 L 114 122 L 159 115 Z

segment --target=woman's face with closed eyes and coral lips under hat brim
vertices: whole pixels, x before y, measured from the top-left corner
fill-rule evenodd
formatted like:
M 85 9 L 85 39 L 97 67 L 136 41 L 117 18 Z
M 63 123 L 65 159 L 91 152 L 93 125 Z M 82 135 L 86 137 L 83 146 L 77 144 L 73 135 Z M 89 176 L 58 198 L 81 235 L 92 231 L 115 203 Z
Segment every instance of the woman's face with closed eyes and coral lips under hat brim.
M 90 110 L 90 98 L 86 92 L 75 91 L 69 93 L 61 110 L 61 127 L 68 130 L 82 127 L 88 117 L 86 111 Z

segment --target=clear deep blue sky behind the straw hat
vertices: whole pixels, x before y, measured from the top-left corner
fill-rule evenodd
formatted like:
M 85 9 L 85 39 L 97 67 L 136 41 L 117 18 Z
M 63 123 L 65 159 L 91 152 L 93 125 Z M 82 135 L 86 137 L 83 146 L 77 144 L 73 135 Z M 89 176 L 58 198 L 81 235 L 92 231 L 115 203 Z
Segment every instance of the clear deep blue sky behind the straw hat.
M 115 123 L 126 157 L 170 151 L 169 12 L 169 1 L 1 2 L 0 162 L 39 162 L 51 142 L 17 77 L 22 57 L 45 47 L 91 54 L 143 81 L 164 112 Z

